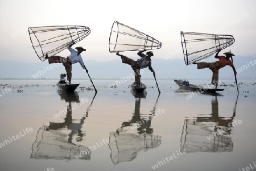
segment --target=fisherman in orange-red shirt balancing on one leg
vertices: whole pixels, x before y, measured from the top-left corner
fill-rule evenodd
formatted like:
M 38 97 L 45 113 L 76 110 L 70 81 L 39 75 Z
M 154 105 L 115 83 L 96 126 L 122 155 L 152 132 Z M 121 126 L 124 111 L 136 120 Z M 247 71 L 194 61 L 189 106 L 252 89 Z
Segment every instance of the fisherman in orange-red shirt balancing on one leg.
M 226 56 L 218 56 L 218 53 L 220 51 L 221 49 L 219 49 L 214 56 L 216 59 L 218 59 L 218 61 L 216 62 L 193 62 L 193 64 L 197 64 L 197 69 L 209 68 L 210 70 L 212 70 L 212 84 L 215 85 L 215 89 L 217 89 L 218 86 L 218 70 L 220 68 L 229 65 L 233 68 L 235 75 L 237 74 L 232 61 L 230 61 L 229 59 L 230 57 L 235 55 L 232 52 L 225 52 L 224 54 Z

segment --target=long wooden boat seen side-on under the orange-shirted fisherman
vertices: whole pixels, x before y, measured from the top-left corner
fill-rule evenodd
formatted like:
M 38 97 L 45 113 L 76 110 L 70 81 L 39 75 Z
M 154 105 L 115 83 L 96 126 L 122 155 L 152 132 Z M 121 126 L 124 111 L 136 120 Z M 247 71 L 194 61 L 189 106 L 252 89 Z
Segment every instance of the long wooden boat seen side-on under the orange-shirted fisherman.
M 193 84 L 189 84 L 187 80 L 174 80 L 174 82 L 179 85 L 181 89 L 191 90 L 191 91 L 200 91 L 207 93 L 216 93 L 216 91 L 223 91 L 224 89 L 212 89 L 209 87 L 197 86 Z

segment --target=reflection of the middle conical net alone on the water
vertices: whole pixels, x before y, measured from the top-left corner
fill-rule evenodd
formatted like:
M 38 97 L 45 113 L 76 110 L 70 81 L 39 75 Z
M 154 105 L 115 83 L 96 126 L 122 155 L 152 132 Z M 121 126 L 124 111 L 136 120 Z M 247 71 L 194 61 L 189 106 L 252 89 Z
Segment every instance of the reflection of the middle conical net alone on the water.
M 137 157 L 139 151 L 146 151 L 159 147 L 161 137 L 149 134 L 125 134 L 110 132 L 110 157 L 114 164 L 122 161 L 131 161 Z

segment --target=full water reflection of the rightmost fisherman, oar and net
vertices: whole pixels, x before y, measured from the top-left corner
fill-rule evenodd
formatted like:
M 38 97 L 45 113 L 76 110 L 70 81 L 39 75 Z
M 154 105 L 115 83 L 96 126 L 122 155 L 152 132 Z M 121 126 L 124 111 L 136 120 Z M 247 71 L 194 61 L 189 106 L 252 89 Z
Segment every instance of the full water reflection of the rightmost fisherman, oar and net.
M 237 95 L 238 100 L 238 95 Z M 210 117 L 185 119 L 180 138 L 180 148 L 189 152 L 232 152 L 233 127 L 236 126 L 236 106 L 230 117 L 220 117 L 217 95 L 212 99 Z

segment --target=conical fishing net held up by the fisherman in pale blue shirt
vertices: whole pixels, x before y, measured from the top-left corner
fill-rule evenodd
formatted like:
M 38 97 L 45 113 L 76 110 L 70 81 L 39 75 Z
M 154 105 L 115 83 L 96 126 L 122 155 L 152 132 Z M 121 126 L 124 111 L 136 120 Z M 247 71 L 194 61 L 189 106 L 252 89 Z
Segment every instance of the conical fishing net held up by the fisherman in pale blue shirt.
M 29 27 L 28 34 L 36 55 L 44 61 L 48 56 L 56 55 L 68 47 L 77 43 L 90 34 L 90 28 L 85 26 L 45 26 Z

